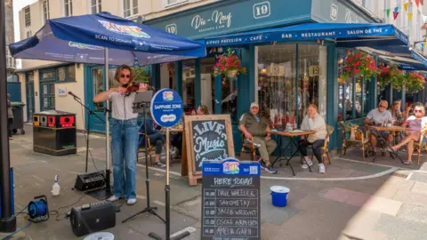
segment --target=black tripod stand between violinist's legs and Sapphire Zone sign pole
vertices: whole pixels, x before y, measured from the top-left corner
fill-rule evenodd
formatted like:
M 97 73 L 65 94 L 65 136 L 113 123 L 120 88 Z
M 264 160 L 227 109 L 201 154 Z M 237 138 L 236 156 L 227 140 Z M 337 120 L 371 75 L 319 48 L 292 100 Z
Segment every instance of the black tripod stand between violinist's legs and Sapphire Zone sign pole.
M 143 92 L 142 92 L 143 94 Z M 147 113 L 146 113 L 146 108 L 149 108 L 149 102 L 147 101 L 142 101 L 142 102 L 134 102 L 133 103 L 133 109 L 141 109 L 142 108 L 142 116 L 144 116 L 144 134 L 145 136 L 147 136 Z M 135 111 L 135 110 L 133 110 Z M 139 110 L 138 110 L 139 111 Z M 136 212 L 135 214 L 133 214 L 132 216 L 130 216 L 129 218 L 122 220 L 122 223 L 125 223 L 127 220 L 131 220 L 134 217 L 138 216 L 141 213 L 144 212 L 149 212 L 155 216 L 157 216 L 157 218 L 159 218 L 160 220 L 162 220 L 163 222 L 166 222 L 164 219 L 162 219 L 162 217 L 160 217 L 157 212 L 154 212 L 155 210 L 157 210 L 157 207 L 152 207 L 149 205 L 149 153 L 147 151 L 147 145 L 149 144 L 148 139 L 145 139 L 145 185 L 147 188 L 147 206 L 140 212 Z M 137 155 L 138 158 L 138 155 Z

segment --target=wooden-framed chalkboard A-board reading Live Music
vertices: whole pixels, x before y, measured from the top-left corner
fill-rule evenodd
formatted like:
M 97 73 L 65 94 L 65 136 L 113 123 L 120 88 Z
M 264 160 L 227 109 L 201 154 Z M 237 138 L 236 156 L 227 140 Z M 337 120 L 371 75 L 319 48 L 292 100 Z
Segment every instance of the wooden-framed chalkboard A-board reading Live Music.
M 205 161 L 234 157 L 230 115 L 184 116 L 184 124 L 192 175 L 201 175 Z

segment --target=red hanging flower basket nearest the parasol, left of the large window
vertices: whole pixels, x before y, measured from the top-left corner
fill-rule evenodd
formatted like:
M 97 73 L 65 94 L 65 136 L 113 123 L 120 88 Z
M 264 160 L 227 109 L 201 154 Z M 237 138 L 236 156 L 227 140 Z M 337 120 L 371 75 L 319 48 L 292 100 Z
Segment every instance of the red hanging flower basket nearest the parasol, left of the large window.
M 214 76 L 227 76 L 233 78 L 240 74 L 246 74 L 246 68 L 242 68 L 242 63 L 238 56 L 230 48 L 218 58 L 214 65 Z

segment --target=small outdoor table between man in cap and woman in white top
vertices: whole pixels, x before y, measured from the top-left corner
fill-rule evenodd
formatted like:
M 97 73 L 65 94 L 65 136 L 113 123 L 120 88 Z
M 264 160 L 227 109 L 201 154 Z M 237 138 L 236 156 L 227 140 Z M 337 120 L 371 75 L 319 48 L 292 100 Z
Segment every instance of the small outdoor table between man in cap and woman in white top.
M 301 154 L 301 149 L 298 145 L 298 142 L 296 142 L 296 138 L 297 137 L 301 137 L 301 136 L 307 136 L 310 134 L 314 134 L 316 133 L 315 131 L 302 131 L 302 130 L 296 130 L 296 131 L 292 131 L 292 132 L 283 132 L 283 131 L 274 131 L 274 130 L 270 130 L 267 131 L 267 133 L 273 134 L 273 135 L 278 135 L 278 146 L 279 146 L 279 152 L 278 152 L 278 157 L 276 157 L 276 159 L 274 160 L 273 164 L 271 164 L 272 166 L 274 166 L 274 164 L 276 164 L 276 162 L 280 161 L 280 166 L 282 165 L 282 159 L 286 160 L 286 165 L 289 165 L 291 167 L 292 173 L 295 176 L 295 172 L 294 172 L 294 168 L 292 167 L 291 164 L 289 164 L 289 162 L 291 161 L 291 159 L 296 155 L 297 152 L 299 152 Z M 287 143 L 285 148 L 282 148 L 282 138 L 280 137 L 286 137 L 290 140 L 289 143 Z M 296 147 L 296 150 L 294 151 L 294 153 L 291 155 L 291 157 L 286 157 L 285 156 L 285 151 L 286 148 L 289 147 L 290 144 L 294 144 L 294 146 Z M 309 170 L 311 172 L 311 168 L 309 165 Z

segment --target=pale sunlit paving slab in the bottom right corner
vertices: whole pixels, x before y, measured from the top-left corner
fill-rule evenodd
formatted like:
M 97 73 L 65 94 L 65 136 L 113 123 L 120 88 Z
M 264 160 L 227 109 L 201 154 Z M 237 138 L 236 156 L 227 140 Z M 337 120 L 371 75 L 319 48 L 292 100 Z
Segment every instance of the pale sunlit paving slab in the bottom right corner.
M 425 223 L 383 214 L 374 229 L 383 232 L 390 239 L 419 240 L 425 239 L 426 227 Z

